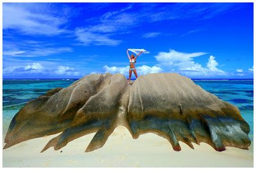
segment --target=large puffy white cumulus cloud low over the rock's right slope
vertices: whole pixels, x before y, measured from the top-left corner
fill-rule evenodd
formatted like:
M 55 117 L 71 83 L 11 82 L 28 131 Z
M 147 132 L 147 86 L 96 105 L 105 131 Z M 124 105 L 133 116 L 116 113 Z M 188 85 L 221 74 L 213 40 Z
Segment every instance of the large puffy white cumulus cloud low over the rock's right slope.
M 200 57 L 205 54 L 205 52 L 177 52 L 171 49 L 169 52 L 159 52 L 155 58 L 159 62 L 159 66 L 163 66 L 165 68 L 165 71 L 175 70 L 179 73 L 186 74 L 187 76 L 212 76 L 226 74 L 225 71 L 217 68 L 218 62 L 212 55 L 209 57 L 206 67 L 203 67 L 201 64 L 193 60 L 195 57 Z

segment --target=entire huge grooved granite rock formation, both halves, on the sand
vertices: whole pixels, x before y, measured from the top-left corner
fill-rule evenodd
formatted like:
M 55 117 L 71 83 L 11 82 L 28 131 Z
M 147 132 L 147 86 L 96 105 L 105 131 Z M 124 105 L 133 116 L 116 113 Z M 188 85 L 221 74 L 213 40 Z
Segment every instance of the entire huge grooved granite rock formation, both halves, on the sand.
M 249 125 L 236 106 L 221 101 L 192 80 L 175 73 L 140 76 L 128 85 L 123 74 L 90 74 L 67 88 L 52 89 L 29 101 L 13 117 L 4 142 L 9 148 L 28 139 L 61 132 L 43 148 L 55 150 L 96 132 L 86 148 L 90 152 L 106 143 L 118 125 L 133 138 L 154 132 L 168 139 L 173 150 L 179 141 L 248 149 Z

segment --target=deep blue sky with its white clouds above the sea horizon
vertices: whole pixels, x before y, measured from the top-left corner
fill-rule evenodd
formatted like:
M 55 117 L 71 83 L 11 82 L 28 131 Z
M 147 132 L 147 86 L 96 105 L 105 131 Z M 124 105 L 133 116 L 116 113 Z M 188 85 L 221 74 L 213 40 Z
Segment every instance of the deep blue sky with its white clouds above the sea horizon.
M 3 3 L 3 78 L 253 78 L 253 3 Z

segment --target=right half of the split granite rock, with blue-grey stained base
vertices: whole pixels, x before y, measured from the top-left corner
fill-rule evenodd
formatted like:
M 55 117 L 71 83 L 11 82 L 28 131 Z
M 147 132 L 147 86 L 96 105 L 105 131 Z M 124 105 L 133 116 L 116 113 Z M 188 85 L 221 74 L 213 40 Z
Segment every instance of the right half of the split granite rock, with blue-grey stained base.
M 215 150 L 225 146 L 247 149 L 249 125 L 236 106 L 174 73 L 140 76 L 129 95 L 129 124 L 133 138 L 154 132 L 168 139 L 174 150 L 179 141 L 208 143 Z

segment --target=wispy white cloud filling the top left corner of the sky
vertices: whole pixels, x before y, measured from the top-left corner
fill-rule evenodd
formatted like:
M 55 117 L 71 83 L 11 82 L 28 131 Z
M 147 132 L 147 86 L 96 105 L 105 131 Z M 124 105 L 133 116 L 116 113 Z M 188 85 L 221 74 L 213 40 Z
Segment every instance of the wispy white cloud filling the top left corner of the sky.
M 42 10 L 42 6 L 45 7 Z M 64 17 L 47 13 L 51 10 L 48 4 L 4 3 L 3 29 L 13 29 L 24 34 L 52 36 L 66 32 L 61 29 L 65 24 Z

